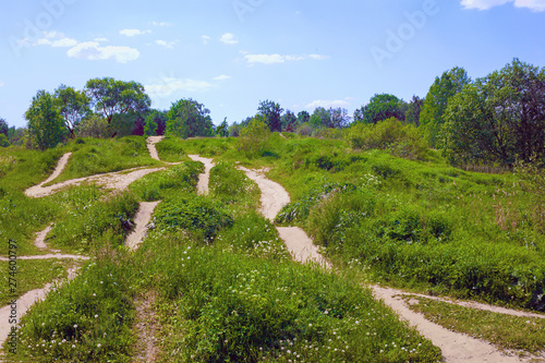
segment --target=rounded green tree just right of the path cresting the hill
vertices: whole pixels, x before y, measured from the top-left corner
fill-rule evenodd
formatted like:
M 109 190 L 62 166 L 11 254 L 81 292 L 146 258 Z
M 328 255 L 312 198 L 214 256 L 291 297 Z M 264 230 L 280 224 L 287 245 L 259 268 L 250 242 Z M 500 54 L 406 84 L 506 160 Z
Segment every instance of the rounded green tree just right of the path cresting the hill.
M 183 138 L 213 136 L 214 124 L 209 113 L 210 110 L 196 100 L 180 99 L 172 104 L 167 114 L 167 135 Z

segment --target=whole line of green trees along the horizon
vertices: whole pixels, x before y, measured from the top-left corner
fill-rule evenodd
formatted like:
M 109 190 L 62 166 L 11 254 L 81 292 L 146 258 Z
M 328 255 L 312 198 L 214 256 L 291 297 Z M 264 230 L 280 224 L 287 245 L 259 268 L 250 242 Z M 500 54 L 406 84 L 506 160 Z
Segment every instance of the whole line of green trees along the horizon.
M 519 59 L 474 81 L 463 68 L 455 66 L 435 78 L 425 98 L 404 101 L 376 94 L 352 117 L 344 108 L 324 107 L 295 114 L 267 99 L 259 101 L 254 116 L 231 125 L 225 119 L 216 126 L 209 109 L 192 98 L 172 102 L 169 110 L 152 109 L 142 84 L 111 77 L 89 80 L 81 90 L 65 85 L 52 93 L 38 90 L 25 112 L 26 129 L 9 128 L 0 118 L 0 146 L 24 143 L 45 149 L 73 137 L 131 134 L 239 136 L 254 121 L 271 132 L 323 136 L 328 130 L 375 128 L 393 119 L 409 128 L 403 133 L 420 135 L 453 165 L 512 167 L 545 159 L 545 69 Z

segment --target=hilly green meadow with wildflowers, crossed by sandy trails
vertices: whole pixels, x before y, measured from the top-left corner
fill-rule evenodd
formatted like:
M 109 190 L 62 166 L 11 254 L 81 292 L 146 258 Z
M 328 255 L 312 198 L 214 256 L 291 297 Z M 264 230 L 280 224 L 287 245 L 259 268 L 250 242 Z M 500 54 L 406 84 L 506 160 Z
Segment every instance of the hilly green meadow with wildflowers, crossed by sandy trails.
M 239 150 L 237 138 L 167 137 L 159 157 L 182 164 L 122 192 L 83 184 L 44 198 L 23 191 L 68 152 L 73 166 L 59 180 L 160 162 L 135 136 L 0 149 L 1 233 L 20 255 L 40 254 L 34 233 L 55 222 L 48 244 L 92 257 L 31 308 L 7 361 L 134 361 L 135 301 L 149 295 L 158 362 L 440 361 L 437 347 L 373 299 L 371 282 L 545 308 L 543 194 L 528 176 L 464 171 L 433 150 L 403 158 L 350 140 L 286 137 L 272 134 L 257 154 Z M 196 194 L 203 166 L 192 154 L 215 158 L 209 195 Z M 257 213 L 259 191 L 237 162 L 270 168 L 290 193 L 275 223 Z M 153 227 L 130 252 L 126 221 L 150 201 L 161 201 Z M 302 227 L 335 270 L 292 262 L 275 225 Z M 48 275 L 40 264 L 22 263 L 22 278 L 39 269 L 40 285 L 66 269 Z

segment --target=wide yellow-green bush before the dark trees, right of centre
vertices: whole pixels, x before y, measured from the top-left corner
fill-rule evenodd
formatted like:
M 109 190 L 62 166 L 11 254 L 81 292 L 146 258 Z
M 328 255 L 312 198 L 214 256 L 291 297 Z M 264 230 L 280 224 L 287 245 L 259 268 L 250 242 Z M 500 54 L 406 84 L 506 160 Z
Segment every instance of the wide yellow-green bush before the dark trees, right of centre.
M 393 118 L 376 125 L 359 123 L 349 129 L 347 137 L 354 149 L 385 149 L 405 159 L 423 160 L 427 156 L 427 146 L 417 129 Z

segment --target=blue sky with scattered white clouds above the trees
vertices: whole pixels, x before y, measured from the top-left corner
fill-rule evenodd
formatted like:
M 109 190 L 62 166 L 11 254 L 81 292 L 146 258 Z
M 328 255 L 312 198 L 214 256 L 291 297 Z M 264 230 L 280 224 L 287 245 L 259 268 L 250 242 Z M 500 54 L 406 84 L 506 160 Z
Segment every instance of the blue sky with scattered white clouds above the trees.
M 354 109 L 424 97 L 463 66 L 545 65 L 545 0 L 0 0 L 0 117 L 24 126 L 38 89 L 142 83 L 153 107 L 193 98 L 216 124 L 270 99 Z

